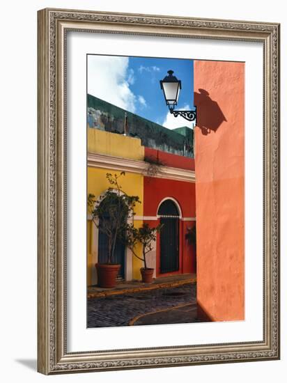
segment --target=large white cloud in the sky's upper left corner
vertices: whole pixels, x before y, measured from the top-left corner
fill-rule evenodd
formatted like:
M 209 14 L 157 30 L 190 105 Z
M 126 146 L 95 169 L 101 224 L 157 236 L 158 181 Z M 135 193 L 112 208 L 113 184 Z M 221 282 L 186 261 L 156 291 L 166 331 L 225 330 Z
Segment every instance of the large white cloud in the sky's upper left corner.
M 130 89 L 134 73 L 128 65 L 128 57 L 88 56 L 88 93 L 134 113 L 137 97 Z

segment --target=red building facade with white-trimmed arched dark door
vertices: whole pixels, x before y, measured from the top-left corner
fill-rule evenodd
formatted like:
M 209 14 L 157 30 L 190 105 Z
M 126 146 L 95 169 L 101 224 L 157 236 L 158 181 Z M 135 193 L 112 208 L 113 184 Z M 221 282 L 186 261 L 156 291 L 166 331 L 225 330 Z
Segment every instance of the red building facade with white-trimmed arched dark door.
M 146 157 L 162 166 L 194 172 L 194 159 L 145 148 Z M 196 272 L 196 250 L 188 234 L 196 224 L 195 182 L 157 177 L 143 178 L 143 219 L 150 226 L 162 224 L 156 242 L 156 276 Z

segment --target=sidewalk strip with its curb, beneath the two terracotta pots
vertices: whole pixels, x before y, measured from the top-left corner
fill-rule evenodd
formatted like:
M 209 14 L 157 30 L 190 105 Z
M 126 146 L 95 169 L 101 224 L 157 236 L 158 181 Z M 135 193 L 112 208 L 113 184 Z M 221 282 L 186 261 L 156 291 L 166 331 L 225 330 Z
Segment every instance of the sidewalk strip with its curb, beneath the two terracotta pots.
M 153 283 L 143 283 L 140 281 L 118 282 L 115 288 L 99 288 L 98 286 L 88 287 L 88 299 L 97 297 L 107 297 L 109 295 L 121 295 L 125 293 L 141 292 L 145 290 L 155 290 L 158 288 L 172 288 L 196 283 L 196 274 L 178 274 L 173 276 L 161 276 L 153 280 Z

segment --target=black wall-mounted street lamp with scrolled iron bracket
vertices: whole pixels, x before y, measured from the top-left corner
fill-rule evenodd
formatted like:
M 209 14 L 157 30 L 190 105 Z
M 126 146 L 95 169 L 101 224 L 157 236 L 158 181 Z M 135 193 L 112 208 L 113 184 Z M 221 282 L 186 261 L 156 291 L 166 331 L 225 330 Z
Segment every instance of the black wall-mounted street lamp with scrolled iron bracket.
M 166 105 L 169 107 L 169 111 L 173 116 L 182 116 L 185 120 L 194 121 L 196 120 L 196 107 L 194 111 L 180 111 L 174 110 L 174 107 L 178 104 L 178 96 L 181 89 L 181 81 L 173 76 L 173 70 L 168 70 L 168 76 L 160 80 L 160 88 L 164 92 L 164 99 Z

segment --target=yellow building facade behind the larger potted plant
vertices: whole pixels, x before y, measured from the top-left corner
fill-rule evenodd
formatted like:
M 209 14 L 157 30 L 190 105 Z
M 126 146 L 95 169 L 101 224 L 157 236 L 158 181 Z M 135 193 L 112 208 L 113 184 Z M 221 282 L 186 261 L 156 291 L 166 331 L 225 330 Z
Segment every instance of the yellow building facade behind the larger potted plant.
M 105 132 L 88 127 L 88 169 L 87 194 L 93 194 L 95 199 L 103 196 L 111 185 L 107 180 L 107 173 L 120 175 L 119 183 L 125 193 L 130 196 L 139 196 L 141 203 L 134 208 L 134 226 L 143 223 L 143 174 L 126 171 L 127 162 L 143 161 L 144 147 L 141 140 L 121 134 Z M 95 263 L 98 262 L 99 230 L 91 221 L 91 214 L 87 220 L 87 284 L 93 286 L 97 283 Z M 134 252 L 141 256 L 141 247 Z M 142 261 L 133 256 L 130 249 L 125 249 L 125 280 L 140 279 Z

